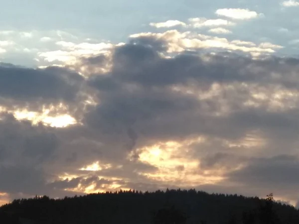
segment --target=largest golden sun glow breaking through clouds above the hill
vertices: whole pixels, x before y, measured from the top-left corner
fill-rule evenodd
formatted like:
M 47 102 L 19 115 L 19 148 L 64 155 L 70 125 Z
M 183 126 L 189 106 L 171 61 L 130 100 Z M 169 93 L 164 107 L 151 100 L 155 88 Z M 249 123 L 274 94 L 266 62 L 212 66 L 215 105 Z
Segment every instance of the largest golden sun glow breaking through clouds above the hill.
M 202 138 L 197 140 L 199 142 L 203 141 Z M 209 175 L 203 172 L 200 173 L 199 160 L 186 156 L 188 153 L 187 144 L 191 144 L 194 141 L 195 139 L 183 143 L 169 141 L 138 149 L 139 160 L 158 169 L 155 172 L 139 174 L 168 184 L 175 185 L 181 183 L 188 187 L 200 184 L 213 184 L 222 180 L 221 176 L 213 175 L 212 173 Z

